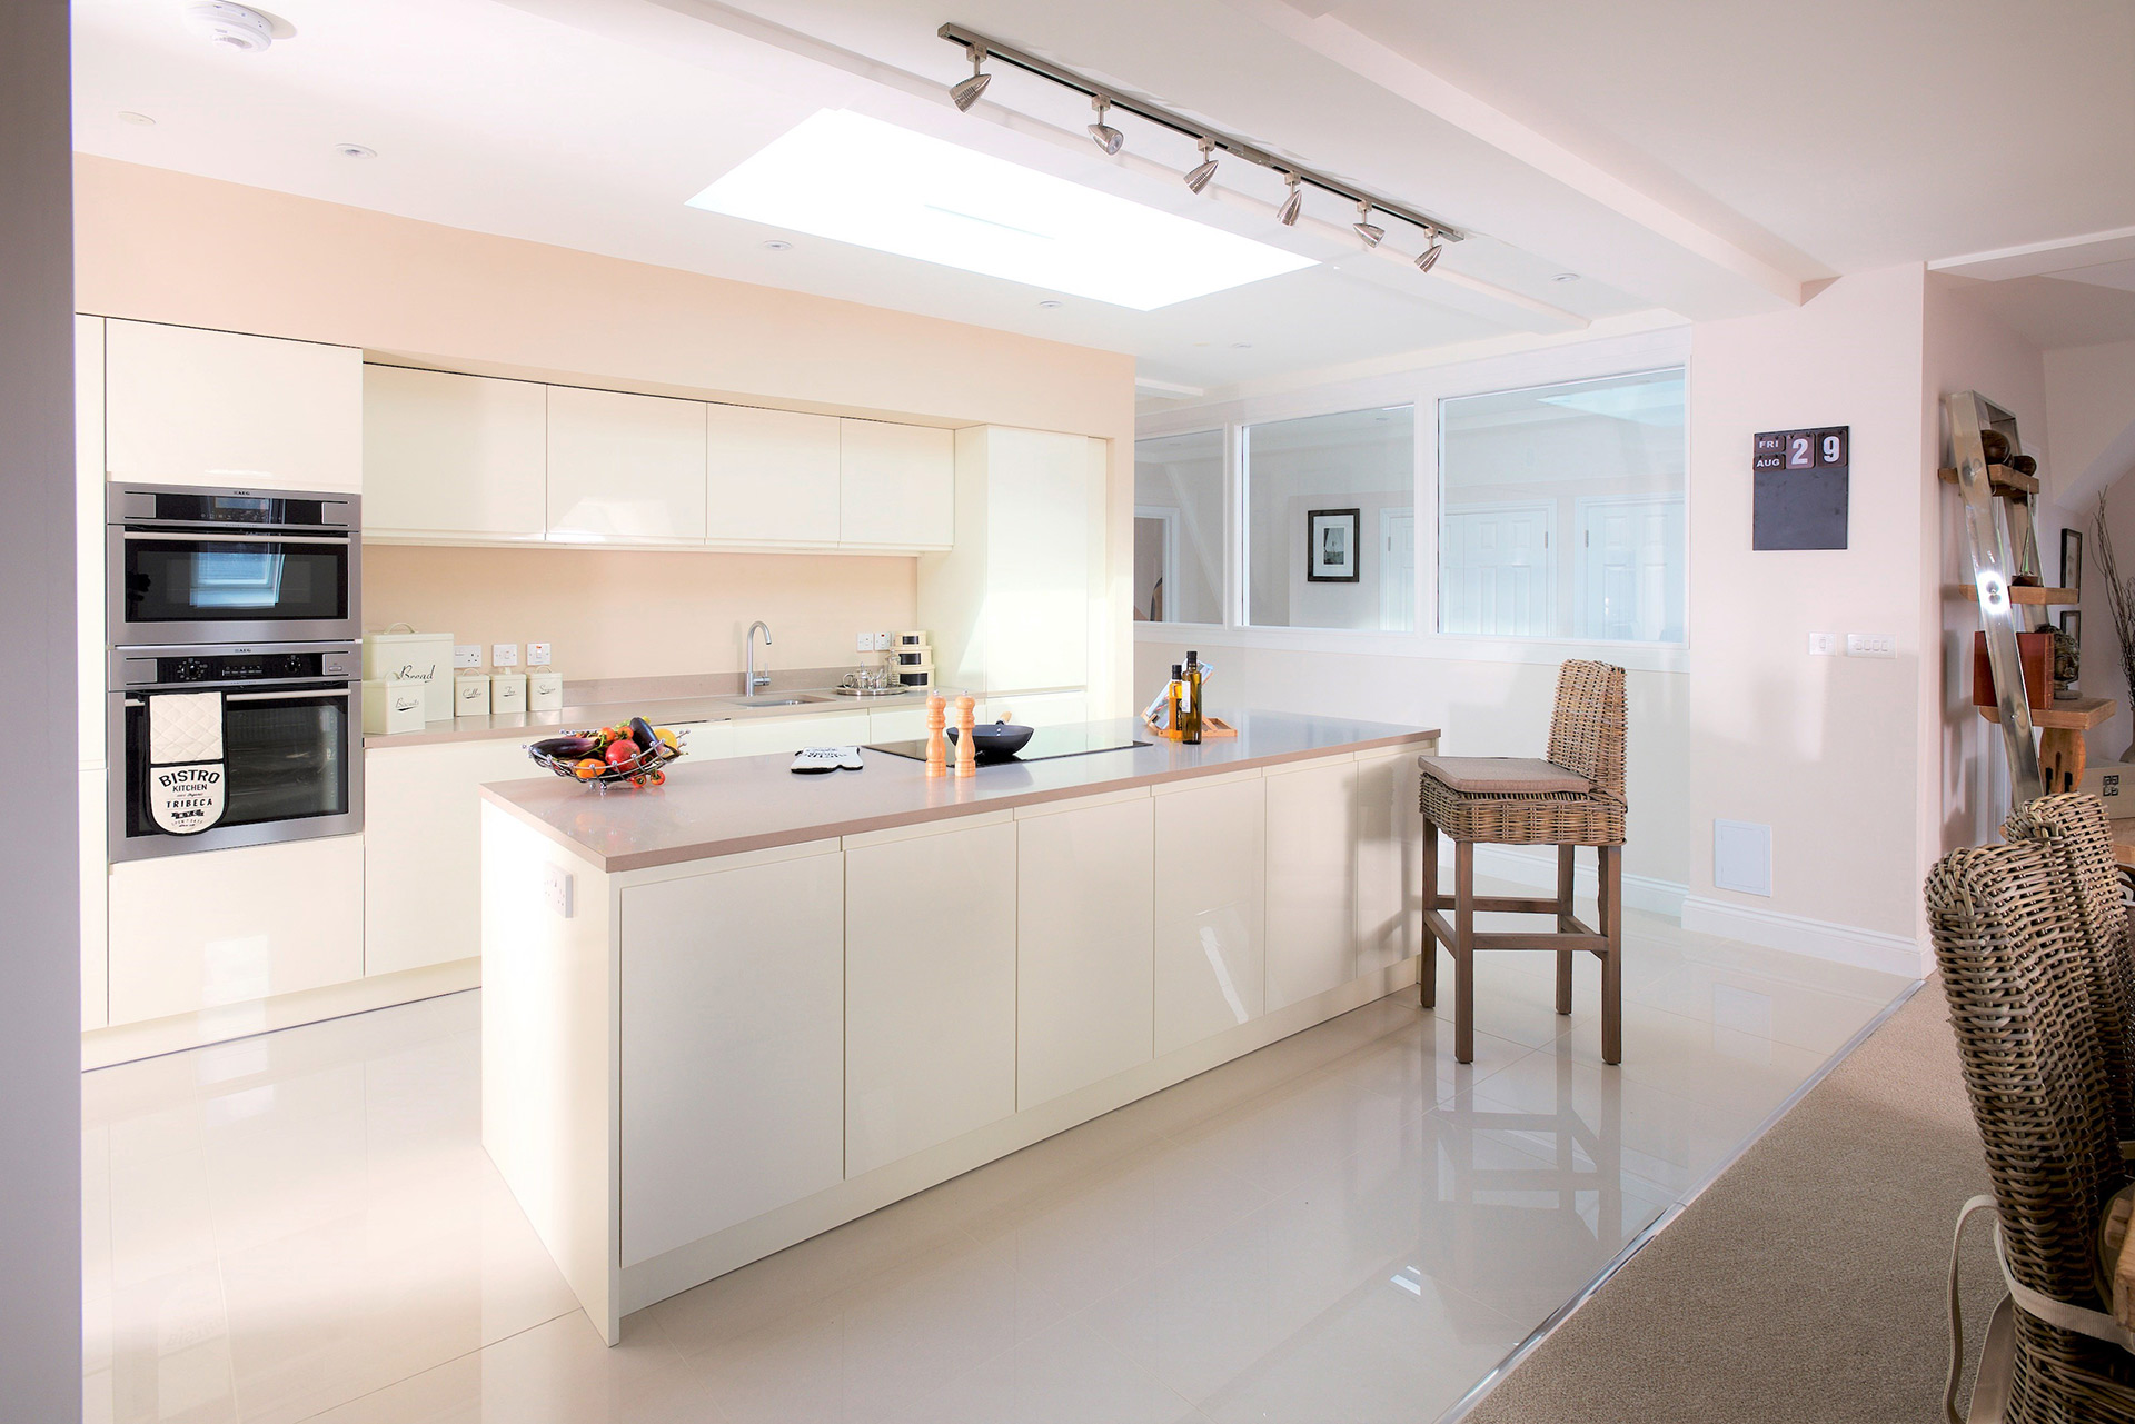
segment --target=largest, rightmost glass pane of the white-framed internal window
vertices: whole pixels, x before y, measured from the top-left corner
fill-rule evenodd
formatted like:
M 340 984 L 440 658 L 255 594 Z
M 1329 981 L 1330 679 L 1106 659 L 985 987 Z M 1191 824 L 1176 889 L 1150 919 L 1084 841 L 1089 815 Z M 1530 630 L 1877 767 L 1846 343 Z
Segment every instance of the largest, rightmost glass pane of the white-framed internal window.
M 1439 632 L 1682 643 L 1682 369 L 1439 401 Z

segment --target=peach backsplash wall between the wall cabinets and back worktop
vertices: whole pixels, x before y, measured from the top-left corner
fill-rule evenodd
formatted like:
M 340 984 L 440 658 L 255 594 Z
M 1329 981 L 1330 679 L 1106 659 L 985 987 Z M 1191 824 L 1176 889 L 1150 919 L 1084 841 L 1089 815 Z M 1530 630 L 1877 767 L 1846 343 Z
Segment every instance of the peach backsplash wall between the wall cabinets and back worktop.
M 615 549 L 365 544 L 363 626 L 412 623 L 455 643 L 553 643 L 581 677 L 734 673 L 749 623 L 773 668 L 875 664 L 860 630 L 912 626 L 916 559 Z M 758 653 L 762 658 L 762 653 Z

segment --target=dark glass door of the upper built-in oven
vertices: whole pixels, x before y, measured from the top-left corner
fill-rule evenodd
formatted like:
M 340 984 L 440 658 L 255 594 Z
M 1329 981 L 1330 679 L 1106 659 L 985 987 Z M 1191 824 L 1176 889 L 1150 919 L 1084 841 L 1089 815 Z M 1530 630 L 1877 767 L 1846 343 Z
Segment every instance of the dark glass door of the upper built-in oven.
M 113 643 L 344 636 L 354 587 L 346 538 L 113 529 Z M 199 636 L 207 632 L 209 636 Z

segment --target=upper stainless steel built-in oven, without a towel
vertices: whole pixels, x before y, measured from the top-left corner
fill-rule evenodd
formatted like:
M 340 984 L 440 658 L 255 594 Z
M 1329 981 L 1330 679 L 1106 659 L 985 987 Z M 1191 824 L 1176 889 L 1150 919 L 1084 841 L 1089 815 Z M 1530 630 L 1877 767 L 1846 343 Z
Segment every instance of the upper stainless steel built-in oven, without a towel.
M 363 636 L 357 510 L 346 493 L 113 485 L 111 647 Z

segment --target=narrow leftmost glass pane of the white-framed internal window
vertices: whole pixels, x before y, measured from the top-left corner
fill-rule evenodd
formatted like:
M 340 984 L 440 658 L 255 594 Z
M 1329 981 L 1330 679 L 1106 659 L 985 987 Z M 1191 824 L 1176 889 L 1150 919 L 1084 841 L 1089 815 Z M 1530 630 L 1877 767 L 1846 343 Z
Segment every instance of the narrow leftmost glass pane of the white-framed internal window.
M 1134 442 L 1134 617 L 1223 621 L 1223 431 Z

